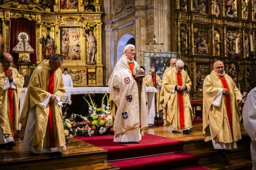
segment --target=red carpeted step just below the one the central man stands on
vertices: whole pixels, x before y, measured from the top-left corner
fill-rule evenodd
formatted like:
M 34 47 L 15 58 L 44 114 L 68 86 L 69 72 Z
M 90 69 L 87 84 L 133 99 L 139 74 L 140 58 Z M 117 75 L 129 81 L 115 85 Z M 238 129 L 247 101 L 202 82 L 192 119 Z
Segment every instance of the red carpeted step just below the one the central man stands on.
M 176 152 L 108 163 L 120 169 L 178 169 L 197 165 L 198 156 L 187 152 Z

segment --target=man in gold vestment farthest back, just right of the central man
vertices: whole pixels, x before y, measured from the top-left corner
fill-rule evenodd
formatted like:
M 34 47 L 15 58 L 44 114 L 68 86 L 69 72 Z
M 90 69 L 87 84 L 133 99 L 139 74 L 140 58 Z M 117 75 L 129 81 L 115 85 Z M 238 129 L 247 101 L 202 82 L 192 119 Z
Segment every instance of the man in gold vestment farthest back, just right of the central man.
M 156 87 L 156 111 L 159 113 L 159 104 L 160 104 L 160 93 L 161 93 L 161 83 L 162 80 L 160 76 L 155 76 L 155 67 L 151 67 L 147 76 L 144 78 L 145 84 L 147 87 Z

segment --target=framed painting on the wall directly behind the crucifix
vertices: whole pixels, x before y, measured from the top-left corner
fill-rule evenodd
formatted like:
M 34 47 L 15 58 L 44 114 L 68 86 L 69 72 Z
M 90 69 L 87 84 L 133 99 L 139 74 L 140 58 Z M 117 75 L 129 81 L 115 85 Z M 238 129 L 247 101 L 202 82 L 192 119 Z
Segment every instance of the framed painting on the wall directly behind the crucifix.
M 177 59 L 176 52 L 156 52 L 154 55 L 153 51 L 144 51 L 143 56 L 145 75 L 148 74 L 151 67 L 155 67 L 156 75 L 159 75 L 161 79 L 163 78 L 164 70 L 170 66 L 171 58 Z

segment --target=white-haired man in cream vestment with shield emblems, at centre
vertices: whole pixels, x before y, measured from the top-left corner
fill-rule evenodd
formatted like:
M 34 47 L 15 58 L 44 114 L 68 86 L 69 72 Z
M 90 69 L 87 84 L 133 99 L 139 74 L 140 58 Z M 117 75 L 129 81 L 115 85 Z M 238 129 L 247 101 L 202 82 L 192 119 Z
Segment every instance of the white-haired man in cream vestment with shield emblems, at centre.
M 114 142 L 139 142 L 148 127 L 146 86 L 134 56 L 135 46 L 125 46 L 108 81 Z

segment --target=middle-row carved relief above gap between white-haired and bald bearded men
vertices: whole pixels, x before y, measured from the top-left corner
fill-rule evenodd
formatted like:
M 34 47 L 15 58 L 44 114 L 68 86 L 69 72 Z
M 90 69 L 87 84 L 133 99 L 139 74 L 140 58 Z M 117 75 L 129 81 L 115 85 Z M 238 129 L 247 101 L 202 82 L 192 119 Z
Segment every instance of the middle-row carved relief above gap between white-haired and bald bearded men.
M 208 55 L 208 26 L 195 24 L 193 34 L 195 54 Z

